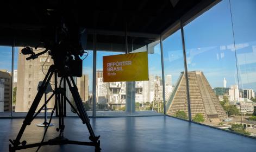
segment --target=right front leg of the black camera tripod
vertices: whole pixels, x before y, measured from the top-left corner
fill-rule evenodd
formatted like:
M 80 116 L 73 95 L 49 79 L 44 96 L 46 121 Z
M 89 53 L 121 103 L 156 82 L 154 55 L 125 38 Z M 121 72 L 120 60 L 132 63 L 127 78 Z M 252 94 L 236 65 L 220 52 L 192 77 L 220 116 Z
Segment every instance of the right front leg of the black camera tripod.
M 76 103 L 76 106 L 77 106 L 77 110 L 79 112 L 79 115 L 80 115 L 80 118 L 82 119 L 83 123 L 86 124 L 87 128 L 88 128 L 88 131 L 90 133 L 90 140 L 93 141 L 93 142 L 97 142 L 98 141 L 98 138 L 99 136 L 95 136 L 93 130 L 92 130 L 92 127 L 91 127 L 91 124 L 90 124 L 90 119 L 86 113 L 86 110 L 84 109 L 84 106 L 83 106 L 83 102 L 82 102 L 82 99 L 80 98 L 80 95 L 78 93 L 78 89 L 77 89 L 77 86 L 76 84 L 74 83 L 74 79 L 72 77 L 70 77 L 71 81 L 72 81 L 72 85 L 71 86 L 71 83 L 70 83 L 70 80 L 68 78 L 66 78 L 66 81 L 67 81 L 67 84 L 68 86 L 70 87 L 70 91 L 71 91 L 71 94 L 74 98 L 74 102 Z

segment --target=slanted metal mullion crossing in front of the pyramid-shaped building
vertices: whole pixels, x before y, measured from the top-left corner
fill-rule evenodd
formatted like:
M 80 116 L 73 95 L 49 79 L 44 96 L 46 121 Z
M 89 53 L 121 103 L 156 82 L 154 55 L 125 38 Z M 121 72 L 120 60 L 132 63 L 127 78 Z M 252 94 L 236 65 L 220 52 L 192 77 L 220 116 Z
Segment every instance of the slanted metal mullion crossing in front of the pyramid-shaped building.
M 184 31 L 183 31 L 183 23 L 182 23 L 182 21 L 180 21 L 180 31 L 182 33 L 182 48 L 183 48 L 184 69 L 185 69 L 185 78 L 186 78 L 186 96 L 187 96 L 187 99 L 188 99 L 188 114 L 189 114 L 189 121 L 191 121 L 188 66 L 186 64 L 186 48 L 185 48 Z

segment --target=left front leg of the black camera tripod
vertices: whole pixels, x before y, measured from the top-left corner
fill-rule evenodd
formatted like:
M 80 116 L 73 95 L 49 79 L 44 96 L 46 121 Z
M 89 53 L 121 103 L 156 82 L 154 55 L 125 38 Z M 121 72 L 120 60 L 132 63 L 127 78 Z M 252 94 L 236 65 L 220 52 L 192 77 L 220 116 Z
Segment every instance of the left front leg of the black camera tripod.
M 30 109 L 29 109 L 29 111 L 27 113 L 26 118 L 23 121 L 23 124 L 21 126 L 20 131 L 18 132 L 18 135 L 17 135 L 16 139 L 13 142 L 11 142 L 14 145 L 14 147 L 9 147 L 10 151 L 15 151 L 16 150 L 17 146 L 21 143 L 20 140 L 21 140 L 21 137 L 23 135 L 24 130 L 26 129 L 26 126 L 30 125 L 30 123 L 33 121 L 33 115 L 34 115 L 34 113 L 35 113 L 35 111 L 36 111 L 36 109 L 37 109 L 37 107 L 38 107 L 38 105 L 40 103 L 40 100 L 41 100 L 41 98 L 43 96 L 43 93 L 45 92 L 45 90 L 47 88 L 47 84 L 51 80 L 51 77 L 53 75 L 54 69 L 55 68 L 52 65 L 49 68 L 49 70 L 48 70 L 48 72 L 46 74 L 45 79 L 43 79 L 43 83 L 42 83 L 41 87 L 39 88 L 38 93 L 35 96 L 35 99 L 34 99 L 32 105 L 31 105 L 31 107 L 30 107 Z M 9 141 L 11 141 L 11 140 L 9 140 Z M 23 144 L 26 144 L 26 142 L 23 142 Z

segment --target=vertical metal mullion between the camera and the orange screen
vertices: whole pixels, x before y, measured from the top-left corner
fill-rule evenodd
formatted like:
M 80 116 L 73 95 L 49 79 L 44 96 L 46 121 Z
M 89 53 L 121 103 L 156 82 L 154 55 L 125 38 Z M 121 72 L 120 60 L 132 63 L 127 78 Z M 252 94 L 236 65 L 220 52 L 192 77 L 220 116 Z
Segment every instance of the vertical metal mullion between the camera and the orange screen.
M 92 68 L 92 117 L 96 117 L 96 34 L 93 33 L 93 68 Z

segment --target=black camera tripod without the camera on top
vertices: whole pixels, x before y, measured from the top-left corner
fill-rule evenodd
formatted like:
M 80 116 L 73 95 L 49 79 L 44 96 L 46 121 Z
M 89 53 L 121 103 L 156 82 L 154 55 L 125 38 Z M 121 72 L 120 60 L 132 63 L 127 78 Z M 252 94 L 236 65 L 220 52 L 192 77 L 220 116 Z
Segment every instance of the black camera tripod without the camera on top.
M 35 113 L 35 111 L 38 108 L 38 105 L 40 103 L 40 100 L 43 96 L 43 93 L 45 92 L 47 85 L 50 82 L 53 74 L 54 74 L 54 83 L 55 83 L 54 84 L 55 89 L 53 91 L 53 94 L 51 95 L 51 97 L 48 98 L 48 100 L 45 102 L 45 104 L 42 105 L 42 107 L 38 110 L 38 112 Z M 86 110 L 84 109 L 83 102 L 78 93 L 77 86 L 74 83 L 74 79 L 72 77 L 69 77 L 69 78 L 61 77 L 59 87 L 58 87 L 57 74 L 58 74 L 58 70 L 57 70 L 56 66 L 55 65 L 50 66 L 49 70 L 46 74 L 46 77 L 43 80 L 42 85 L 40 86 L 39 91 L 35 96 L 34 102 L 32 103 L 32 106 L 30 107 L 30 109 L 27 113 L 27 116 L 23 121 L 23 124 L 21 126 L 20 131 L 18 132 L 16 139 L 9 140 L 11 142 L 11 144 L 13 144 L 13 145 L 9 144 L 10 152 L 15 152 L 16 150 L 33 148 L 33 147 L 40 148 L 42 145 L 57 145 L 57 144 L 59 144 L 59 145 L 61 145 L 61 144 L 90 145 L 90 146 L 95 147 L 95 151 L 101 151 L 100 141 L 98 140 L 99 136 L 95 136 L 95 134 L 92 130 L 92 127 L 90 124 L 90 119 L 86 113 Z M 63 87 L 61 87 L 62 81 L 63 81 Z M 66 82 L 68 84 L 68 87 L 70 88 L 71 94 L 74 98 L 74 103 L 76 104 L 76 107 L 74 107 L 71 104 L 70 100 L 68 100 L 68 98 L 66 97 Z M 26 141 L 20 142 L 22 134 L 23 134 L 24 130 L 26 129 L 26 126 L 30 125 L 30 123 L 33 121 L 33 119 L 40 113 L 40 111 L 43 109 L 43 107 L 45 107 L 45 105 L 49 102 L 49 100 L 51 100 L 51 98 L 54 95 L 55 95 L 55 105 L 53 107 L 51 117 L 53 116 L 54 111 L 56 111 L 56 117 L 59 118 L 59 128 L 57 128 L 57 131 L 59 131 L 59 136 L 56 138 L 53 138 L 52 140 L 48 140 L 46 142 L 44 142 L 42 140 L 42 142 L 40 142 L 40 143 L 27 144 Z M 91 142 L 71 141 L 64 137 L 63 133 L 64 133 L 64 128 L 65 128 L 64 117 L 66 117 L 66 102 L 71 105 L 73 111 L 75 113 L 77 113 L 77 115 L 80 117 L 80 119 L 82 119 L 83 124 L 86 124 L 88 131 L 90 133 L 89 139 Z M 51 119 L 50 119 L 49 123 L 51 123 Z M 46 131 L 48 129 L 48 126 L 46 128 Z M 46 134 L 46 131 L 45 131 L 45 134 Z M 45 134 L 44 134 L 44 136 L 45 136 Z M 43 136 L 43 139 L 44 139 L 44 136 Z M 38 150 L 39 150 L 39 148 L 38 148 Z

